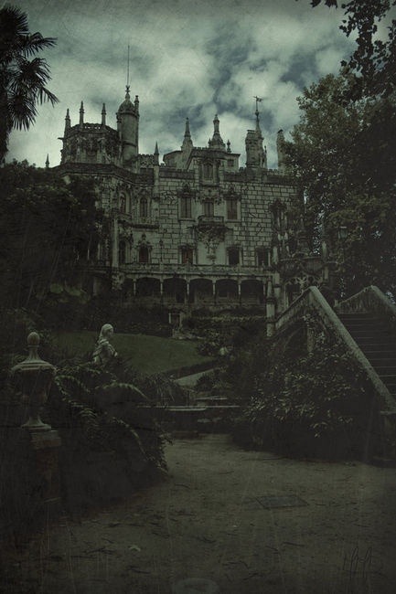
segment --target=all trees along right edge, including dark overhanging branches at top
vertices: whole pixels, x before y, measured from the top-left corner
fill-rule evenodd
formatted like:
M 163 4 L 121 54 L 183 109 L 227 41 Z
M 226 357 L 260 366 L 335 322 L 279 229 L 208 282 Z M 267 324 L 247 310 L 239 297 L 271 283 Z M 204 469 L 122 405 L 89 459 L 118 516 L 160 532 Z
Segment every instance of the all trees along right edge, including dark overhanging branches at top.
M 324 0 L 337 6 L 337 0 Z M 321 0 L 313 0 L 319 5 Z M 319 80 L 298 100 L 302 111 L 286 143 L 305 196 L 312 246 L 326 241 L 340 263 L 340 292 L 370 283 L 395 292 L 396 20 L 395 0 L 349 0 L 341 29 L 357 49 L 339 76 Z M 380 21 L 388 37 L 378 35 Z M 339 240 L 345 228 L 347 239 Z

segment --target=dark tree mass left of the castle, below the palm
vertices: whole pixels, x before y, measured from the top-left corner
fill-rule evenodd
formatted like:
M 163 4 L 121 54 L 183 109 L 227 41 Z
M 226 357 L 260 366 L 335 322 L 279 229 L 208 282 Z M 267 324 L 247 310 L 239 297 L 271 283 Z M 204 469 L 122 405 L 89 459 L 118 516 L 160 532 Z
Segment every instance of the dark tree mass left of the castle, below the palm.
M 0 168 L 0 301 L 45 313 L 78 301 L 95 241 L 93 184 L 24 163 Z

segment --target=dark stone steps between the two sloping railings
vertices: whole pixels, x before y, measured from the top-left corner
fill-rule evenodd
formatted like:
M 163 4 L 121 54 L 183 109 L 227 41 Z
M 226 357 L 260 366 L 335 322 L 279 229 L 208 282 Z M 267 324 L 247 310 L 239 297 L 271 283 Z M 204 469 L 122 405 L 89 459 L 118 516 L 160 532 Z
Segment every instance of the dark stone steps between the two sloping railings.
M 396 398 L 396 337 L 390 327 L 372 313 L 338 313 L 338 318 Z

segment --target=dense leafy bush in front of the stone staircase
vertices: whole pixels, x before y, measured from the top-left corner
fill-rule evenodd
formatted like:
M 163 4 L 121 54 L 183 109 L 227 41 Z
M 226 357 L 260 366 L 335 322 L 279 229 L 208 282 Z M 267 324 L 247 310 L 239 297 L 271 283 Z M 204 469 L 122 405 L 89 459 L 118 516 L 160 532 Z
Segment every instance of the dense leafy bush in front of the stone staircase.
M 378 440 L 367 378 L 308 317 L 313 352 L 306 350 L 305 327 L 296 327 L 277 341 L 257 338 L 235 358 L 229 373 L 242 407 L 235 437 L 293 456 L 364 455 Z

